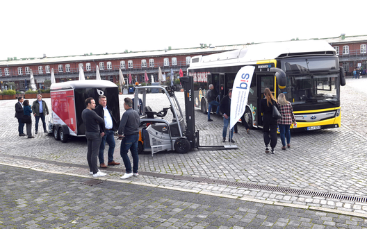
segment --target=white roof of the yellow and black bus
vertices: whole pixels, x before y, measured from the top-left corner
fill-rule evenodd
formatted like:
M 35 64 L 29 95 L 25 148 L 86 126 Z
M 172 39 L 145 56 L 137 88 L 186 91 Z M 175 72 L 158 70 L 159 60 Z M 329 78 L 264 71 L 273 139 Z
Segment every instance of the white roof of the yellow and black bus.
M 225 65 L 248 65 L 258 61 L 286 58 L 290 56 L 307 56 L 329 54 L 336 51 L 324 40 L 300 40 L 291 42 L 269 42 L 248 45 L 245 49 L 237 49 L 208 56 L 194 56 L 190 60 L 190 68 L 213 67 Z

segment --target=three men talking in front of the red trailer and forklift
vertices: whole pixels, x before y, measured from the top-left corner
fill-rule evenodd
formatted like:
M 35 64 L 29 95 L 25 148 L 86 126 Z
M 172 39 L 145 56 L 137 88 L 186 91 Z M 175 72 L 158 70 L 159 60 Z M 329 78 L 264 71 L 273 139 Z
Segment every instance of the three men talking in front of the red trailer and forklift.
M 133 101 L 130 98 L 124 99 L 124 109 L 121 120 L 116 120 L 112 110 L 107 105 L 107 98 L 104 95 L 99 96 L 99 105 L 96 107 L 95 99 L 92 97 L 85 99 L 86 108 L 81 113 L 81 118 L 85 126 L 85 137 L 88 142 L 87 160 L 90 169 L 90 175 L 93 177 L 106 176 L 106 173 L 99 171 L 99 166 L 106 169 L 108 165 L 119 165 L 113 160 L 115 151 L 115 131 L 118 130 L 118 139 L 122 140 L 120 146 L 120 155 L 124 161 L 126 173 L 121 179 L 127 179 L 131 176 L 139 176 L 138 173 L 138 139 L 140 117 L 136 110 L 132 109 Z M 104 148 L 108 144 L 108 163 L 104 163 Z M 131 151 L 133 157 L 133 167 L 128 151 Z

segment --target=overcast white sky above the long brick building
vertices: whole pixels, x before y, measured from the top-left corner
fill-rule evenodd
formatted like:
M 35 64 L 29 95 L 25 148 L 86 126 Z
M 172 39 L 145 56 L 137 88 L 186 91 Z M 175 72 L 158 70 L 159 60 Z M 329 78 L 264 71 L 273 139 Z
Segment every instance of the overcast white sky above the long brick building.
M 366 35 L 367 1 L 3 1 L 0 60 Z

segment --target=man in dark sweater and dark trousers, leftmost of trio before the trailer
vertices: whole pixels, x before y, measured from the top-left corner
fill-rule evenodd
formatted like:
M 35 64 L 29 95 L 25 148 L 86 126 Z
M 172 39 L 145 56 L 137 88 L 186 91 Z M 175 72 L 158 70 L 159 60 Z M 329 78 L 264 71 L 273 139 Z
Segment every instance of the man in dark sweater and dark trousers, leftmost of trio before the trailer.
M 103 124 L 104 120 L 93 111 L 95 109 L 95 100 L 92 97 L 85 99 L 85 106 L 86 108 L 81 112 L 81 119 L 84 122 L 85 137 L 88 142 L 87 160 L 89 173 L 95 178 L 106 176 L 106 173 L 99 171 L 97 164 L 99 145 L 101 144 L 101 137 L 104 136 L 104 133 L 101 133 L 99 130 L 99 124 Z

